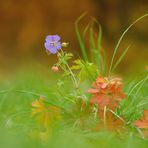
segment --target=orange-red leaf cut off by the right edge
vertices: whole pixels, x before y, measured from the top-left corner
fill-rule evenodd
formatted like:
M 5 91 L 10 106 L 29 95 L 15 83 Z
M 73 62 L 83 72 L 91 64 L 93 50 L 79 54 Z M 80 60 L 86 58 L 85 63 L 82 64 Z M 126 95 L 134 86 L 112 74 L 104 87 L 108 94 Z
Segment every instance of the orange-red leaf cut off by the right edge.
M 134 122 L 134 124 L 141 129 L 148 129 L 148 110 L 144 111 L 143 117 Z

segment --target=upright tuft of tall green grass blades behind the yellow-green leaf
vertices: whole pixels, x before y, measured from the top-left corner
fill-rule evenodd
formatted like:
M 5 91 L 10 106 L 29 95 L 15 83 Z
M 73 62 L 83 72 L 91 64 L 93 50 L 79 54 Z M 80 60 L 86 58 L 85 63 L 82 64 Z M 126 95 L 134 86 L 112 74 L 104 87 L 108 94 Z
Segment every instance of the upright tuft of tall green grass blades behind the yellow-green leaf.
M 82 51 L 83 60 L 85 62 L 90 61 L 91 63 L 94 63 L 98 67 L 100 73 L 104 74 L 106 71 L 106 64 L 102 48 L 102 28 L 100 23 L 92 17 L 91 21 L 84 27 L 84 30 L 81 33 L 79 24 L 85 15 L 86 13 L 82 14 L 75 22 L 75 30 Z M 89 49 L 85 46 L 87 33 L 89 33 Z M 87 56 L 87 51 L 90 51 L 90 58 Z

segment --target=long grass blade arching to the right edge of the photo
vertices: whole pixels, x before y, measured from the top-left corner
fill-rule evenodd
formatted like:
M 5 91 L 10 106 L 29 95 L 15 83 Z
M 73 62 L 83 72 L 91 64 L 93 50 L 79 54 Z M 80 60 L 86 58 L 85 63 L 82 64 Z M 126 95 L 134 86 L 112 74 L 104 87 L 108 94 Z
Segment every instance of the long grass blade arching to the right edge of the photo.
M 118 42 L 117 42 L 117 45 L 115 47 L 115 50 L 114 50 L 114 53 L 113 53 L 113 56 L 112 56 L 112 59 L 111 59 L 111 64 L 110 64 L 110 68 L 109 68 L 109 76 L 111 74 L 111 71 L 112 71 L 112 67 L 113 67 L 113 62 L 114 62 L 114 58 L 115 58 L 115 55 L 119 49 L 119 46 L 120 46 L 120 43 L 123 39 L 123 37 L 125 36 L 125 34 L 128 32 L 128 30 L 134 26 L 137 22 L 139 22 L 141 19 L 145 18 L 148 16 L 148 13 L 146 13 L 145 15 L 141 16 L 140 18 L 136 19 L 124 32 L 123 34 L 121 35 L 121 37 L 119 38 Z

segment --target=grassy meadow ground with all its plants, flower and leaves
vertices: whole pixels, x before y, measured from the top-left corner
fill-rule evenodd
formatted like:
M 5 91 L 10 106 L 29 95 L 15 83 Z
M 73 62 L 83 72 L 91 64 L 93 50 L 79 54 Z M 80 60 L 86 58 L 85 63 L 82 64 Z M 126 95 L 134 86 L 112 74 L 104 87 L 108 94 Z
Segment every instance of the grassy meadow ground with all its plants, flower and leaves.
M 97 20 L 86 26 L 83 37 L 80 34 L 78 25 L 84 16 L 75 23 L 82 58 L 65 50 L 68 44 L 61 43 L 58 35 L 48 35 L 47 53 L 57 55 L 52 68 L 27 65 L 0 81 L 1 148 L 148 147 L 148 69 L 136 77 L 114 75 L 130 47 L 115 61 L 124 35 L 148 14 L 121 35 L 110 64 Z M 99 28 L 97 38 L 94 23 Z M 83 40 L 88 30 L 89 55 Z

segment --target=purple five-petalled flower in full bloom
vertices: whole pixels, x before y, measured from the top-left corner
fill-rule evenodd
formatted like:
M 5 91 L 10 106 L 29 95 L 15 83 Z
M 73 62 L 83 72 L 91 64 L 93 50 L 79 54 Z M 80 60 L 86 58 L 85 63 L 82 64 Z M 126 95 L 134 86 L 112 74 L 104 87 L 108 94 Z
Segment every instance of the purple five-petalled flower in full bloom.
M 60 37 L 58 35 L 48 35 L 45 39 L 45 48 L 47 52 L 52 54 L 57 53 L 59 49 L 61 49 Z

